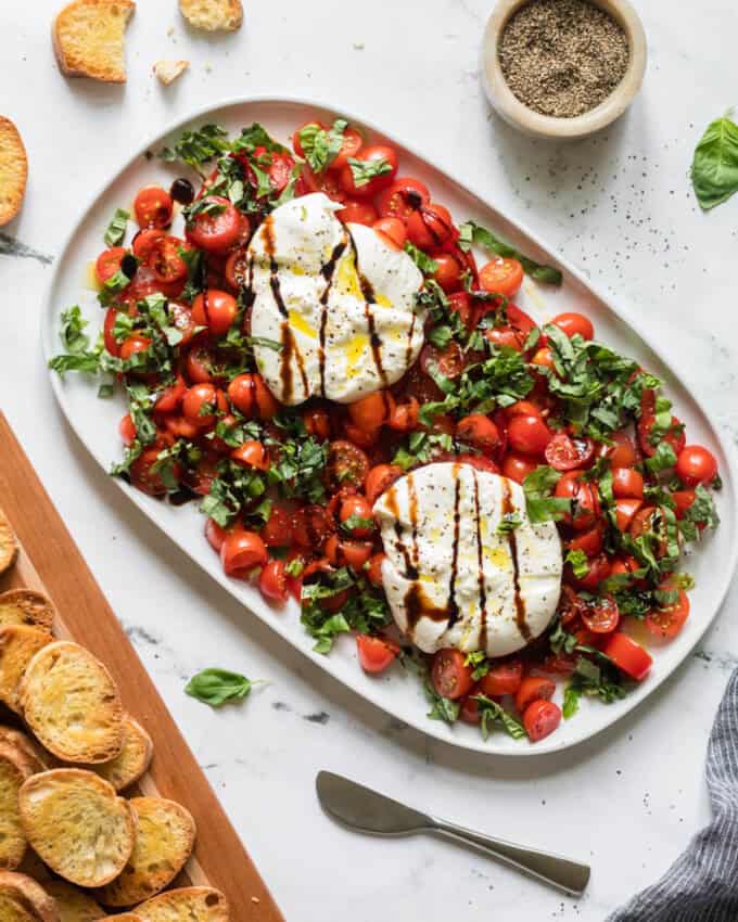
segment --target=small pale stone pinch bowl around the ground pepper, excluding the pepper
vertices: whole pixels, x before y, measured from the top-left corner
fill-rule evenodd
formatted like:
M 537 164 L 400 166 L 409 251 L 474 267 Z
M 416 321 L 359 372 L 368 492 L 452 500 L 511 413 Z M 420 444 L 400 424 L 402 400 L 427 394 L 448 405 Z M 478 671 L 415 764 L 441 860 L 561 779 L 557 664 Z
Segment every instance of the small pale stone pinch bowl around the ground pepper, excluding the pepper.
M 526 135 L 551 140 L 584 138 L 621 116 L 638 92 L 646 71 L 646 35 L 638 14 L 627 0 L 589 0 L 620 24 L 629 47 L 623 79 L 599 105 L 572 118 L 542 115 L 514 95 L 502 76 L 498 43 L 508 21 L 530 0 L 499 0 L 492 11 L 482 40 L 482 82 L 489 104 L 508 124 Z

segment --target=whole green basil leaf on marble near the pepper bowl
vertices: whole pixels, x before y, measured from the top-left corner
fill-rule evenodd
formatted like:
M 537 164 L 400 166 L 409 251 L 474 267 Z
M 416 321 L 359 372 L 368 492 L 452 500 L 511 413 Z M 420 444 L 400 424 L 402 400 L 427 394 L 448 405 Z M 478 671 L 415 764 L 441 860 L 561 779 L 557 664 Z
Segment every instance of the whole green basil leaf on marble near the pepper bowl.
M 691 180 L 705 212 L 738 191 L 738 125 L 724 115 L 708 125 L 695 150 Z

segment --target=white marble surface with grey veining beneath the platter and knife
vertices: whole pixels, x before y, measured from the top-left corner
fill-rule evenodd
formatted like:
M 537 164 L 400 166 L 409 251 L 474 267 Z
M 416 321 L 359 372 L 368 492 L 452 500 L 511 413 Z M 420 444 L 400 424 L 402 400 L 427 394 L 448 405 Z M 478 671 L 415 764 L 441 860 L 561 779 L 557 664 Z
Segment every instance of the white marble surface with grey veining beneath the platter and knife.
M 243 29 L 221 39 L 188 33 L 175 0 L 141 0 L 125 88 L 58 73 L 49 37 L 58 5 L 0 7 L 0 107 L 30 157 L 23 213 L 4 229 L 29 249 L 0 236 L 0 406 L 285 917 L 602 920 L 708 816 L 704 748 L 738 662 L 736 591 L 701 652 L 589 744 L 521 763 L 429 743 L 250 620 L 126 504 L 53 402 L 39 304 L 71 218 L 141 139 L 227 97 L 315 97 L 415 139 L 560 247 L 640 316 L 738 433 L 738 199 L 704 216 L 688 183 L 701 130 L 735 102 L 738 60 L 716 52 L 735 25 L 733 4 L 640 0 L 650 44 L 641 94 L 606 135 L 561 146 L 525 140 L 487 111 L 476 56 L 488 0 L 249 3 Z M 192 62 L 168 89 L 150 73 L 163 56 Z M 270 683 L 214 714 L 182 692 L 187 677 L 214 664 Z M 351 834 L 318 807 L 319 768 L 462 824 L 588 859 L 590 887 L 568 899 L 453 845 Z

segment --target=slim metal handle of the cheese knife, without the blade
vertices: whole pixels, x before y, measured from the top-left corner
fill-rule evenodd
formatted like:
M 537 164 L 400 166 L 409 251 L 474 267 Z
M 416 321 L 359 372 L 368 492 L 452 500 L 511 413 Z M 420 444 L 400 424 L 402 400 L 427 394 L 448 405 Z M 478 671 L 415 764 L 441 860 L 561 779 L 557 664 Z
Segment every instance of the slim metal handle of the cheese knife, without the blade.
M 526 871 L 534 878 L 554 884 L 554 886 L 569 893 L 581 894 L 589 881 L 590 869 L 588 865 L 580 865 L 577 861 L 570 861 L 559 855 L 549 855 L 546 851 L 539 851 L 537 848 L 525 848 L 501 838 L 482 835 L 479 832 L 472 832 L 469 829 L 454 825 L 454 823 L 444 820 L 436 820 L 433 817 L 430 819 L 430 829 L 434 832 L 440 832 L 457 842 L 471 845 L 492 858 L 497 858 L 506 865 Z

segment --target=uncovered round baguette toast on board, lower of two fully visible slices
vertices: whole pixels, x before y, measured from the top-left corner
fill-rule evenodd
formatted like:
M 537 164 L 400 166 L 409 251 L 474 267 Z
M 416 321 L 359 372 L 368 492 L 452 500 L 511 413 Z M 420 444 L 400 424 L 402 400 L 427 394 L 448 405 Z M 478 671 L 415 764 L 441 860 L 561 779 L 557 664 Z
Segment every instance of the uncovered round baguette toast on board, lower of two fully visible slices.
M 80 887 L 100 887 L 125 868 L 136 818 L 112 784 L 92 771 L 54 768 L 21 789 L 26 838 L 52 871 Z

